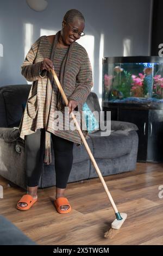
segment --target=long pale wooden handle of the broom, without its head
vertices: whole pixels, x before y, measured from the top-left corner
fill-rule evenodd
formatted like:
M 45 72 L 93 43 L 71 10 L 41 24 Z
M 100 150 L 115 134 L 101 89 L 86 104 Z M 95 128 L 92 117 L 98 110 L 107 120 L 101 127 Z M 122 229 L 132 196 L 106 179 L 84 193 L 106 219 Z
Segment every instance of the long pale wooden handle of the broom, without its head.
M 65 101 L 66 106 L 67 106 L 67 105 L 68 105 L 68 100 L 67 100 L 67 97 L 66 97 L 66 95 L 65 95 L 65 92 L 64 92 L 63 88 L 61 87 L 61 84 L 60 84 L 60 82 L 59 82 L 59 80 L 58 80 L 58 76 L 57 76 L 57 74 L 55 73 L 55 71 L 54 71 L 53 69 L 51 69 L 51 72 L 52 72 L 52 74 L 53 74 L 54 80 L 55 80 L 55 82 L 57 83 L 58 89 L 60 90 L 60 93 L 61 93 L 61 95 L 62 95 L 62 97 L 63 97 L 63 99 L 64 99 L 64 101 Z M 116 214 L 116 213 L 118 212 L 118 210 L 117 210 L 117 208 L 116 208 L 116 205 L 115 205 L 115 203 L 114 203 L 114 200 L 112 199 L 112 196 L 111 196 L 111 194 L 110 194 L 110 192 L 109 192 L 109 190 L 108 190 L 108 187 L 107 187 L 107 185 L 106 185 L 106 183 L 105 183 L 105 181 L 104 181 L 104 178 L 103 178 L 103 176 L 102 176 L 102 174 L 101 174 L 101 171 L 99 170 L 99 168 L 98 168 L 98 166 L 97 166 L 97 163 L 96 163 L 96 161 L 95 161 L 95 158 L 93 157 L 93 155 L 92 155 L 92 153 L 91 153 L 91 150 L 90 150 L 90 148 L 89 148 L 89 145 L 88 145 L 87 142 L 86 142 L 86 139 L 85 139 L 85 137 L 84 137 L 84 135 L 83 135 L 83 132 L 82 132 L 82 130 L 80 129 L 80 126 L 79 126 L 79 124 L 78 124 L 78 121 L 77 121 L 76 117 L 74 116 L 74 113 L 73 113 L 73 112 L 71 112 L 71 117 L 72 117 L 72 119 L 73 119 L 73 121 L 74 121 L 74 123 L 75 123 L 75 125 L 76 125 L 76 127 L 77 127 L 78 133 L 79 133 L 80 137 L 82 138 L 82 141 L 83 141 L 83 143 L 84 143 L 84 145 L 85 145 L 86 151 L 87 151 L 87 153 L 88 153 L 89 156 L 90 156 L 90 159 L 91 159 L 91 161 L 92 161 L 92 163 L 93 163 L 93 166 L 94 166 L 95 169 L 96 169 L 96 172 L 97 172 L 97 174 L 98 174 L 98 176 L 99 176 L 99 179 L 100 179 L 101 182 L 102 182 L 102 185 L 103 185 L 103 187 L 104 187 L 104 189 L 105 189 L 105 192 L 106 192 L 106 194 L 107 194 L 107 196 L 108 196 L 108 198 L 109 198 L 109 200 L 110 200 L 110 203 L 111 203 L 111 205 L 112 205 L 112 208 L 114 209 L 115 214 Z

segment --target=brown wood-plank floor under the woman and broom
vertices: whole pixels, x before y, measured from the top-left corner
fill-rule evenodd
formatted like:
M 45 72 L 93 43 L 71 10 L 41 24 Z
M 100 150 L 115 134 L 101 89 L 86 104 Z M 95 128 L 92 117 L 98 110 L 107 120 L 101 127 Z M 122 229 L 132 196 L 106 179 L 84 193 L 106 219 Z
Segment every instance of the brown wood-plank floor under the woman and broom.
M 0 178 L 0 213 L 39 245 L 163 245 L 163 198 L 158 197 L 163 164 L 137 163 L 134 172 L 105 181 L 118 210 L 128 214 L 111 240 L 104 233 L 115 215 L 99 179 L 68 184 L 66 196 L 73 210 L 60 215 L 52 203 L 54 187 L 40 189 L 39 201 L 29 211 L 18 211 L 15 205 L 24 191 Z

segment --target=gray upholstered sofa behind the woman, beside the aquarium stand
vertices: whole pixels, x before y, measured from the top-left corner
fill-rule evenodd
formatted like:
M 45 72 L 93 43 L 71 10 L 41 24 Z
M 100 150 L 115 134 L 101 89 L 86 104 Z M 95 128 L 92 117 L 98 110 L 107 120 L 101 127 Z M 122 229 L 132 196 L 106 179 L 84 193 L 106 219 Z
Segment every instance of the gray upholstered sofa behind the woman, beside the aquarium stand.
M 30 87 L 29 84 L 20 84 L 0 88 L 0 175 L 23 188 L 26 188 L 26 141 L 19 137 L 19 131 L 14 127 L 20 124 Z M 101 111 L 95 93 L 91 93 L 86 102 L 92 111 Z M 137 126 L 111 121 L 111 130 L 110 136 L 101 137 L 101 131 L 96 131 L 87 137 L 87 143 L 104 176 L 134 170 L 137 159 Z M 53 147 L 52 156 L 52 164 L 40 164 L 41 188 L 55 185 Z M 84 145 L 77 147 L 75 144 L 73 156 L 68 182 L 97 176 Z

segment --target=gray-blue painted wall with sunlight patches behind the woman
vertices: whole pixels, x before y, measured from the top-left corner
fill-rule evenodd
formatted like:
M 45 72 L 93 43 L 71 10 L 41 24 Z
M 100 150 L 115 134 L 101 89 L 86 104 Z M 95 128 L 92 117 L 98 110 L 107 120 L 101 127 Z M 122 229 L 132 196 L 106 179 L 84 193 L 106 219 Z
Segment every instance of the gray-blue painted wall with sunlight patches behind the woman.
M 101 98 L 102 57 L 149 54 L 151 0 L 47 0 L 45 11 L 30 9 L 26 0 L 5 0 L 0 5 L 0 86 L 27 83 L 20 66 L 30 45 L 40 34 L 61 29 L 62 17 L 75 8 L 85 16 L 87 36 L 78 40 L 90 54 L 93 91 Z M 3 56 L 3 57 L 2 57 Z

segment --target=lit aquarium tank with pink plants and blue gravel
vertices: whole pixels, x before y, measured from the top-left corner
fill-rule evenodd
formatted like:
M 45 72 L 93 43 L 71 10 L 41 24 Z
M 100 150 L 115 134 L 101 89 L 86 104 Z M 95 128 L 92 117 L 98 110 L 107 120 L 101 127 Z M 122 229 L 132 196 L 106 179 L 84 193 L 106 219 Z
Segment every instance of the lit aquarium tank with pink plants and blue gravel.
M 103 102 L 163 103 L 163 57 L 103 58 Z

